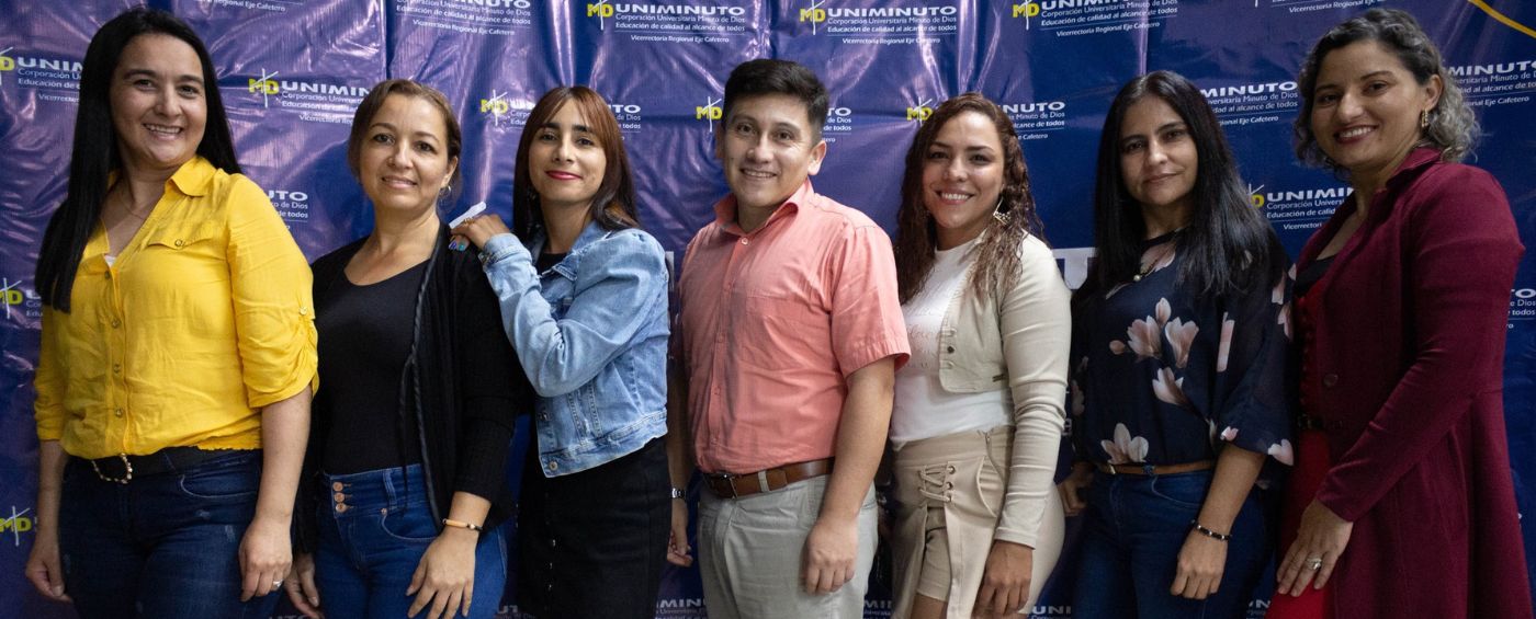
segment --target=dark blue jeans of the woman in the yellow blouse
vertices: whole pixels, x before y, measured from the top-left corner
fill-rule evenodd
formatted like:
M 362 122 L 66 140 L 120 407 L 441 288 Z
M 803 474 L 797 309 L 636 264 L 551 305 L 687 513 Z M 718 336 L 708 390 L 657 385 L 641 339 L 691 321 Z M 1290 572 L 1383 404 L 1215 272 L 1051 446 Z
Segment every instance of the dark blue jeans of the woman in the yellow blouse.
M 65 590 L 81 617 L 266 617 L 278 593 L 240 601 L 240 541 L 257 512 L 261 452 L 103 481 L 69 458 L 58 512 Z

